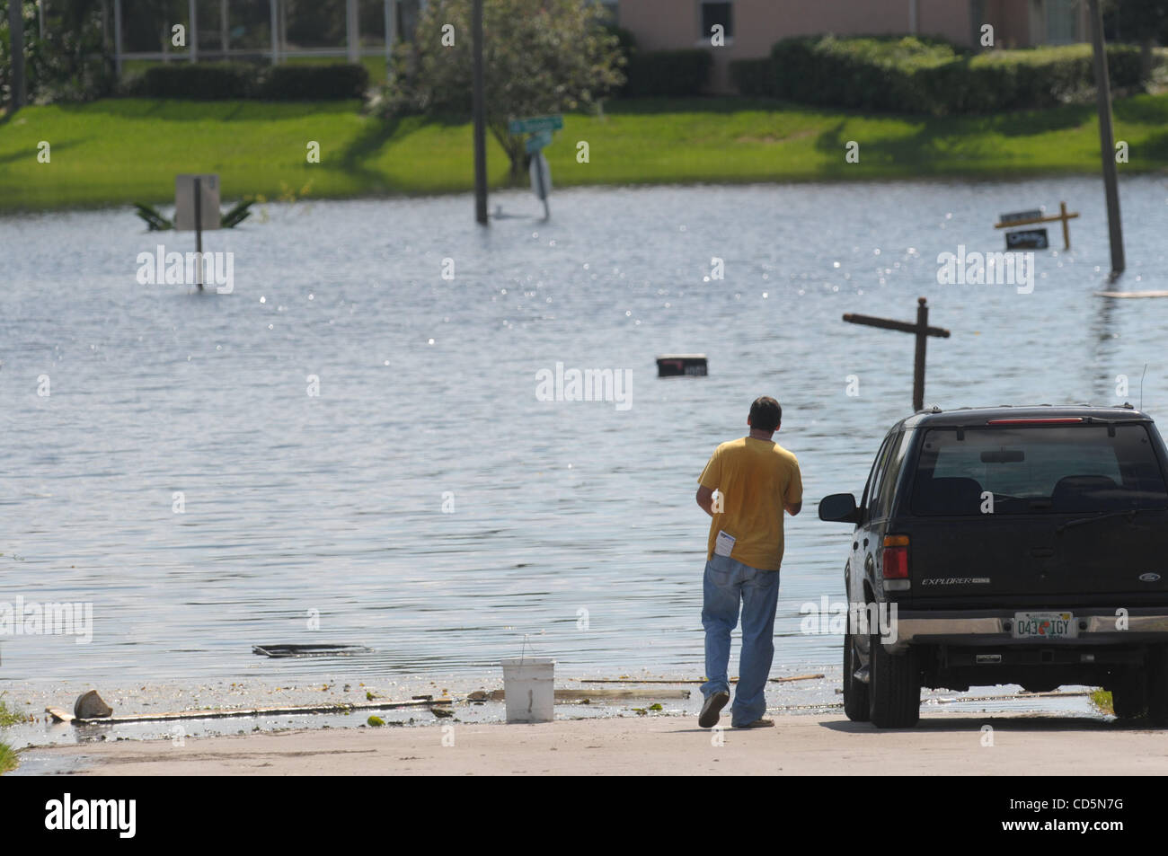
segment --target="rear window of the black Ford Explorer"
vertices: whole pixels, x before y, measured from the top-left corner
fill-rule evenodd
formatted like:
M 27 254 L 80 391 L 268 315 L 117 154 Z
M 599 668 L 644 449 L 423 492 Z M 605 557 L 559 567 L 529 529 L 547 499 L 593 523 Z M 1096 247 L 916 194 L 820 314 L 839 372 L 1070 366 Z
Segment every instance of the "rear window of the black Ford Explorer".
M 960 439 L 959 439 L 960 437 Z M 912 513 L 1091 514 L 1168 508 L 1168 490 L 1143 425 L 937 427 L 925 432 Z

